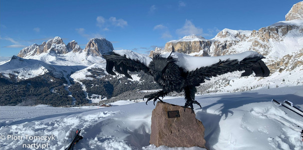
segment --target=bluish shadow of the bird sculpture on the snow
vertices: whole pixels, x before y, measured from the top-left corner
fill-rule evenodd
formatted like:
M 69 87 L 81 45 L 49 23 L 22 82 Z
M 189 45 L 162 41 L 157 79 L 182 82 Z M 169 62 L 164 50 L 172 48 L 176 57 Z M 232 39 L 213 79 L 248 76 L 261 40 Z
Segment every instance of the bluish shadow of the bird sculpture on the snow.
M 270 102 L 271 99 L 276 99 L 277 101 L 288 99 L 295 105 L 303 104 L 303 100 L 301 100 L 303 97 L 296 94 L 270 95 L 258 92 L 241 92 L 240 94 L 224 94 L 214 96 L 210 95 L 196 98 L 196 100 L 203 103 L 203 99 L 207 98 L 219 98 L 219 100 L 216 100 L 215 102 L 212 102 L 201 109 L 196 109 L 196 118 L 202 121 L 205 127 L 204 138 L 206 140 L 206 147 L 209 149 L 214 149 L 213 145 L 218 142 L 219 134 L 221 132 L 219 125 L 220 120 L 226 119 L 228 116 L 233 115 L 234 108 L 255 102 Z M 208 113 L 207 109 L 215 105 L 220 105 L 220 107 L 214 111 L 219 111 L 219 114 L 214 114 L 214 112 Z M 224 118 L 222 118 L 223 116 Z

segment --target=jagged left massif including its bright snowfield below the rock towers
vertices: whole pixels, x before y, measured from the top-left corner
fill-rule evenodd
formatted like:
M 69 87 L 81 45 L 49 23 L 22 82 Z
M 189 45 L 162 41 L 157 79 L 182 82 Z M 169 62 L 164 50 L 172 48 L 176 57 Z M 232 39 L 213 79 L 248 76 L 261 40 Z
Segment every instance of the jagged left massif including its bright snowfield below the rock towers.
M 75 40 L 66 45 L 61 37 L 56 36 L 42 44 L 35 43 L 23 48 L 18 56 L 49 64 L 89 66 L 103 61 L 102 54 L 113 49 L 112 43 L 105 38 L 92 38 L 85 49 L 81 49 Z

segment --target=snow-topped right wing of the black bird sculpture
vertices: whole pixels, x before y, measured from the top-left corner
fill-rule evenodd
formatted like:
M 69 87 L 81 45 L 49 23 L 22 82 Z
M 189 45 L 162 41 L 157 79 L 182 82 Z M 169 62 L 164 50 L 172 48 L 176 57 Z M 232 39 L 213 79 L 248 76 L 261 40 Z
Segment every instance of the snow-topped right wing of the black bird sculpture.
M 241 75 L 247 76 L 255 72 L 255 76 L 268 76 L 269 69 L 261 60 L 262 55 L 255 51 L 245 51 L 239 54 L 223 56 L 189 56 L 182 53 L 173 53 L 178 58 L 177 65 L 187 74 L 188 85 L 199 85 L 208 77 L 221 75 L 236 70 L 245 70 Z

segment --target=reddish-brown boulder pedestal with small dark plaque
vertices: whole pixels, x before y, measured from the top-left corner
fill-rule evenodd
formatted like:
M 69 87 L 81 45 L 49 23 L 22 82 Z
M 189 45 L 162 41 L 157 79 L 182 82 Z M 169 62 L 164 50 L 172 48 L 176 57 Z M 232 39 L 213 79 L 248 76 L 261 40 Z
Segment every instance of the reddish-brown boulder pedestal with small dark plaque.
M 190 108 L 157 102 L 152 112 L 150 143 L 169 147 L 205 147 L 204 126 Z

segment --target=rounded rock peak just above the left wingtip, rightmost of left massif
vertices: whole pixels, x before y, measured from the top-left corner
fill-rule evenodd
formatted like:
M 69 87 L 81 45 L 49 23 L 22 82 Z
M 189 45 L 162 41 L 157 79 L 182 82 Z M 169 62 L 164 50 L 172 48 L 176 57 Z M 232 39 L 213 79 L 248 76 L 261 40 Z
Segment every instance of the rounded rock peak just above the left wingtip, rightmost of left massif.
M 87 55 L 101 56 L 103 53 L 113 51 L 113 44 L 105 38 L 92 38 L 85 46 Z

